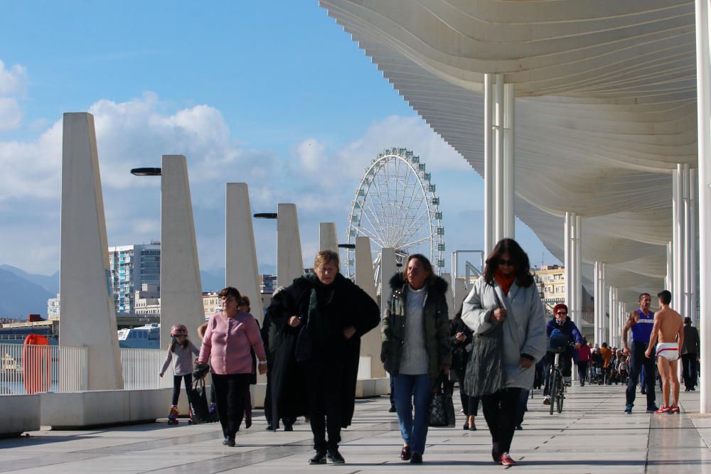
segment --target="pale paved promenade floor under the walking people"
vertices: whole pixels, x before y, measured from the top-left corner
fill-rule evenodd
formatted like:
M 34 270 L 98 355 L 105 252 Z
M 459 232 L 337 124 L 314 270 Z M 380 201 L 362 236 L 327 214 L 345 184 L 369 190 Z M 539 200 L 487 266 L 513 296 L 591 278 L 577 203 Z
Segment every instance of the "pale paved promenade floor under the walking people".
M 513 440 L 513 468 L 522 473 L 711 473 L 711 417 L 699 416 L 698 392 L 682 392 L 683 414 L 625 416 L 624 389 L 572 387 L 562 414 L 550 416 L 540 393 Z M 643 399 L 638 402 L 644 404 Z M 309 466 L 311 431 L 264 431 L 257 416 L 237 433 L 237 447 L 222 446 L 218 425 L 164 423 L 90 431 L 36 431 L 0 440 L 0 472 L 12 473 L 498 473 L 483 416 L 479 431 L 430 429 L 423 465 L 398 458 L 400 433 L 387 398 L 356 402 L 355 424 L 343 431 L 346 465 Z M 459 403 L 455 402 L 457 411 Z M 547 407 L 546 407 L 547 408 Z M 694 413 L 696 412 L 696 413 Z M 257 411 L 256 414 L 261 414 Z

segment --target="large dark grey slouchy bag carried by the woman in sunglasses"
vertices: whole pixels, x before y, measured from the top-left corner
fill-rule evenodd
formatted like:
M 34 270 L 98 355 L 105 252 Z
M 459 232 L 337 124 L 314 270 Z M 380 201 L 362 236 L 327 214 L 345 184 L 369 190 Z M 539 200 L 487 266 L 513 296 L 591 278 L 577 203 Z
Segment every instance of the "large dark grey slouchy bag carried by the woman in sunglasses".
M 464 377 L 464 392 L 469 397 L 483 397 L 498 392 L 506 384 L 502 360 L 503 323 L 494 325 L 486 333 L 474 335 L 472 343 L 471 358 L 466 365 Z

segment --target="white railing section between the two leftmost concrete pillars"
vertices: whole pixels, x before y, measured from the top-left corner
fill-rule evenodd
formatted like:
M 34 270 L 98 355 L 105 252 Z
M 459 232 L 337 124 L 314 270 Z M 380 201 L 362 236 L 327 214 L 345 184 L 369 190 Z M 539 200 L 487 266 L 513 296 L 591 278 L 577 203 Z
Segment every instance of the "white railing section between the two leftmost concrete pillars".
M 164 389 L 173 387 L 173 371 L 169 367 L 161 376 L 161 367 L 166 360 L 163 349 L 121 349 L 121 365 L 124 373 L 124 389 Z

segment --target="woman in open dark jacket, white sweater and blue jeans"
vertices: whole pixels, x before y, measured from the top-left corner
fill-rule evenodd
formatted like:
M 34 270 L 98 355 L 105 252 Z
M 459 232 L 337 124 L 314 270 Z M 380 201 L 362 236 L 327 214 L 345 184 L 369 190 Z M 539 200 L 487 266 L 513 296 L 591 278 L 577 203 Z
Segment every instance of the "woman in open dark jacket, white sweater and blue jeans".
M 432 385 L 451 365 L 447 281 L 434 274 L 427 257 L 412 254 L 402 274 L 390 279 L 390 289 L 380 360 L 395 379 L 395 410 L 404 441 L 400 459 L 419 464 L 427 441 Z

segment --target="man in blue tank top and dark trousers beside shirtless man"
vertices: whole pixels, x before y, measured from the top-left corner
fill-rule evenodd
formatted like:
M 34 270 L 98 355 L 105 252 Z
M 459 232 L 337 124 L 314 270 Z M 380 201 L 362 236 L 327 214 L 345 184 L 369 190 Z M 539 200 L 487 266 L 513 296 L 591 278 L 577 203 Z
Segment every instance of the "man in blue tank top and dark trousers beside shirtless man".
M 629 379 L 627 379 L 627 405 L 624 412 L 632 413 L 634 406 L 634 397 L 636 395 L 636 387 L 639 379 L 639 374 L 642 367 L 646 372 L 646 395 L 647 395 L 647 413 L 654 413 L 658 409 L 654 402 L 654 349 L 651 350 L 650 357 L 646 357 L 644 352 L 647 350 L 649 338 L 654 327 L 654 313 L 649 311 L 652 297 L 649 293 L 639 295 L 639 309 L 632 311 L 627 318 L 627 323 L 622 329 L 622 348 L 629 359 Z M 627 345 L 627 333 L 632 330 L 632 347 Z

